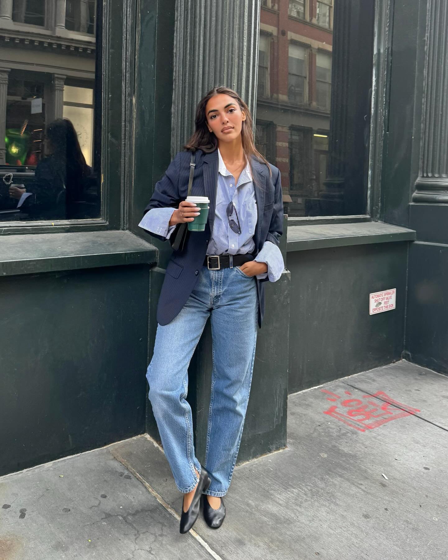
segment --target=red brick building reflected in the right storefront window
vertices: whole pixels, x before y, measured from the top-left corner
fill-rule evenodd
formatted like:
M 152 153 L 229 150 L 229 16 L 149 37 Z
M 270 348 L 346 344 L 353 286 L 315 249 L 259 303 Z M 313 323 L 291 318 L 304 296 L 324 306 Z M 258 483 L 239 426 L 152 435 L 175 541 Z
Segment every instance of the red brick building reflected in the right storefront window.
M 332 44 L 333 0 L 262 0 L 257 141 L 282 172 L 290 216 L 313 215 L 324 190 Z

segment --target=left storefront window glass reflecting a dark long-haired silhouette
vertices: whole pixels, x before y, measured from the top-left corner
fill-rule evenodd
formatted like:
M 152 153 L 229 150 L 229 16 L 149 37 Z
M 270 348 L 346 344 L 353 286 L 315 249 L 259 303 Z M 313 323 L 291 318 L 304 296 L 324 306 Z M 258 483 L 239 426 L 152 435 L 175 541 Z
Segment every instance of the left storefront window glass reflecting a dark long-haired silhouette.
M 14 0 L 11 18 L 43 25 L 38 16 L 45 16 L 44 6 L 44 0 Z M 72 20 L 53 10 L 46 29 L 33 27 L 27 34 L 22 27 L 2 52 L 2 222 L 100 216 L 95 2 L 67 0 L 66 10 Z M 0 19 L 0 32 L 2 26 L 14 35 L 6 19 Z

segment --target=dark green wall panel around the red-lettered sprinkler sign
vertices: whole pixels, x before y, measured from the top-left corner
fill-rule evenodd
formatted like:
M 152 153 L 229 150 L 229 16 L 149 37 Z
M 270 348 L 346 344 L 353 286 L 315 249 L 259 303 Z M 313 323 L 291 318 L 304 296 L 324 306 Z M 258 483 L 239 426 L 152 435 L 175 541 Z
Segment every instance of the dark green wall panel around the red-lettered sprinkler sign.
M 400 360 L 407 242 L 288 252 L 290 393 Z M 369 294 L 396 288 L 396 309 L 369 315 Z

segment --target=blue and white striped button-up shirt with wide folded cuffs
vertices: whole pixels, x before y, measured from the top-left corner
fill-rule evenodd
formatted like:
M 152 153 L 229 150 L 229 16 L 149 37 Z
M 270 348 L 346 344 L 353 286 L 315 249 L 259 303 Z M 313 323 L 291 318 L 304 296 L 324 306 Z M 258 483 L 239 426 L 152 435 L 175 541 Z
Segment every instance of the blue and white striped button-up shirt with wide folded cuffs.
M 235 185 L 235 178 L 227 170 L 219 148 L 218 158 L 218 188 L 215 215 L 213 232 L 207 246 L 207 255 L 253 253 L 255 249 L 253 237 L 257 220 L 257 209 L 249 162 L 241 171 L 238 182 Z M 238 214 L 241 234 L 235 233 L 228 222 L 226 209 L 231 200 Z M 143 216 L 139 226 L 169 239 L 176 227 L 175 225 L 169 226 L 169 221 L 174 211 L 175 208 L 151 208 Z M 231 218 L 238 222 L 235 212 Z M 282 253 L 276 244 L 265 241 L 262 250 L 256 255 L 255 260 L 256 262 L 268 265 L 268 272 L 257 274 L 257 278 L 268 277 L 270 282 L 276 282 L 280 278 L 284 269 L 284 262 Z

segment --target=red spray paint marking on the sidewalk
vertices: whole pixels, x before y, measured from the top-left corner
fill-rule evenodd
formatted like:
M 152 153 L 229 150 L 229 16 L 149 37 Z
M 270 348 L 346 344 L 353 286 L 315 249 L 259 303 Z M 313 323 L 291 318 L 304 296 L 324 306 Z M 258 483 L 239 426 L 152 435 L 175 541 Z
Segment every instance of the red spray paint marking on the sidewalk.
M 326 400 L 333 403 L 342 398 L 341 396 L 335 395 L 326 389 L 321 389 L 321 391 L 332 395 L 331 398 L 328 396 Z M 346 395 L 352 395 L 350 391 L 344 391 L 344 393 Z M 377 391 L 375 395 L 362 395 L 362 398 L 372 399 L 376 396 L 381 397 L 381 399 L 385 402 L 380 401 L 381 405 L 379 406 L 379 404 L 373 400 L 363 402 L 360 399 L 345 399 L 339 403 L 342 407 L 346 408 L 343 412 L 337 411 L 337 404 L 332 405 L 328 410 L 324 410 L 323 412 L 324 414 L 328 414 L 329 416 L 344 422 L 347 426 L 355 428 L 355 430 L 359 430 L 360 432 L 373 430 L 374 428 L 377 428 L 386 422 L 390 422 L 391 420 L 398 420 L 398 418 L 404 418 L 410 414 L 420 412 L 418 408 L 408 407 L 407 405 L 398 402 L 398 400 L 390 398 L 390 396 L 384 393 L 384 391 Z M 369 405 L 372 408 L 368 408 Z M 375 412 L 378 414 L 374 414 Z

